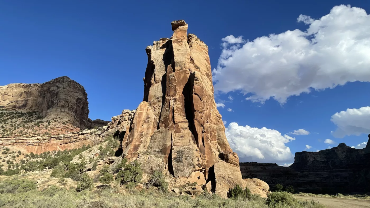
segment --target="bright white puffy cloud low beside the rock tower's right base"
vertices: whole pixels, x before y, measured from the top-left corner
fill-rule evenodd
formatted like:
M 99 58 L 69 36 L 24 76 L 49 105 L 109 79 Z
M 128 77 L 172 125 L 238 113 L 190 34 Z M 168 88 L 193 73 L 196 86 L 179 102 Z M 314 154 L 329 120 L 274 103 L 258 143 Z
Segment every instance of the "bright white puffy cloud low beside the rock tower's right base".
M 225 133 L 231 148 L 238 153 L 240 161 L 281 163 L 294 160 L 289 147 L 285 144 L 295 138 L 282 136 L 277 130 L 230 123 Z

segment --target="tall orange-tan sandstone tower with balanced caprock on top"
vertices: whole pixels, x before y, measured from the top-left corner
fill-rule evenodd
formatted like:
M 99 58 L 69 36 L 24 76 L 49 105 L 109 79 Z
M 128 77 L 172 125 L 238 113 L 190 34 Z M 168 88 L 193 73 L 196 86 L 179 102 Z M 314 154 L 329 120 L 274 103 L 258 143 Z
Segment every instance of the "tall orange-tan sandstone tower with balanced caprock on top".
M 144 99 L 124 132 L 123 156 L 141 162 L 145 173 L 159 170 L 176 183 L 211 183 L 226 197 L 243 180 L 216 108 L 208 47 L 187 33 L 184 20 L 171 24 L 171 38 L 146 48 Z

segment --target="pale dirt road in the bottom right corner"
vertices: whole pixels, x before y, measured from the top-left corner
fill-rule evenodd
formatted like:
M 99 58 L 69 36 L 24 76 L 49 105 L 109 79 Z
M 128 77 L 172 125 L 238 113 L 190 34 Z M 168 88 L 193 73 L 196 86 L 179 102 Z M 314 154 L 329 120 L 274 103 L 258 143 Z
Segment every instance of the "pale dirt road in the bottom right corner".
M 295 197 L 297 199 L 310 200 L 313 199 L 327 208 L 366 208 L 370 207 L 370 200 L 352 200 L 341 198 L 325 198 L 325 197 Z

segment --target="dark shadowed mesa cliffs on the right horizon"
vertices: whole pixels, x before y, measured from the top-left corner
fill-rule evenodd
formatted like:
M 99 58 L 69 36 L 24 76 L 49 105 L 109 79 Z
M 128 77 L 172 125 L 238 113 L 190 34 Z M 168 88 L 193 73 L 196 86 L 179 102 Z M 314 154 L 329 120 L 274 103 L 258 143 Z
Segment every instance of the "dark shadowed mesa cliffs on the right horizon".
M 275 184 L 292 185 L 296 192 L 365 194 L 370 192 L 369 142 L 364 149 L 341 143 L 319 152 L 298 152 L 290 167 L 240 163 L 240 170 L 243 178 L 259 178 L 270 187 Z

